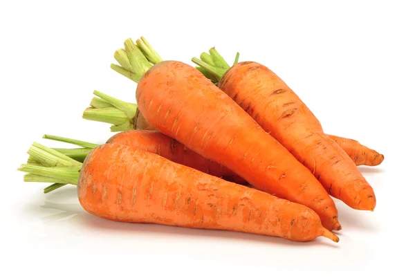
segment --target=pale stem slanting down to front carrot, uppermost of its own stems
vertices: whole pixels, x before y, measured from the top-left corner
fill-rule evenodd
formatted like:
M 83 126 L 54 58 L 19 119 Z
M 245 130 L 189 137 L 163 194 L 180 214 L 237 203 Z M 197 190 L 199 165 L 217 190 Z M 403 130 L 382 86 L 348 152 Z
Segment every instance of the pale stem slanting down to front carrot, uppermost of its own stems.
M 46 166 L 77 166 L 82 165 L 77 160 L 74 160 L 68 156 L 64 156 L 63 154 L 59 153 L 59 151 L 55 151 L 54 149 L 50 149 L 42 144 L 34 142 L 30 149 L 28 150 L 28 154 L 32 156 L 37 162 L 42 163 L 42 165 Z

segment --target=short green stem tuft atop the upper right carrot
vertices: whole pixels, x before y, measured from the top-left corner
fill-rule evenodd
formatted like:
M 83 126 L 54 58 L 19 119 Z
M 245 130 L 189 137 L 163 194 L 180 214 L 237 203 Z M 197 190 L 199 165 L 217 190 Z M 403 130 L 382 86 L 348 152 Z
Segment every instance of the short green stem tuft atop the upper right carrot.
M 233 64 L 237 64 L 238 61 L 239 52 L 235 56 Z M 230 65 L 214 47 L 210 48 L 209 53 L 202 53 L 200 59 L 193 57 L 192 62 L 198 65 L 196 68 L 215 84 L 221 80 L 222 76 L 230 68 Z

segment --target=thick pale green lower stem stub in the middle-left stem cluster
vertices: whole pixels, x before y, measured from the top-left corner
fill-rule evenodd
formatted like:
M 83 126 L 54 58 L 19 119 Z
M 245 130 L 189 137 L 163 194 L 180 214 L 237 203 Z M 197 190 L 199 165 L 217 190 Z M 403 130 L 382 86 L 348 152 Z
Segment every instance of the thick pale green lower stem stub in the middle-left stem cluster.
M 116 125 L 129 121 L 127 114 L 116 107 L 87 108 L 84 110 L 82 118 Z

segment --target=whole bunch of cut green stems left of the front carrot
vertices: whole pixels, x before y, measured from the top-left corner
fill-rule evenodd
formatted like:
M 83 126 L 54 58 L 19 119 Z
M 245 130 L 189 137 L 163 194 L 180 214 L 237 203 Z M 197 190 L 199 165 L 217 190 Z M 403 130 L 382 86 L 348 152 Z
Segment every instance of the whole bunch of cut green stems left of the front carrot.
M 18 169 L 26 173 L 24 181 L 53 183 L 44 188 L 45 194 L 67 184 L 77 185 L 84 159 L 93 148 L 99 145 L 59 136 L 44 135 L 43 138 L 67 142 L 80 148 L 49 148 L 34 142 L 28 150 L 27 163 L 22 164 Z

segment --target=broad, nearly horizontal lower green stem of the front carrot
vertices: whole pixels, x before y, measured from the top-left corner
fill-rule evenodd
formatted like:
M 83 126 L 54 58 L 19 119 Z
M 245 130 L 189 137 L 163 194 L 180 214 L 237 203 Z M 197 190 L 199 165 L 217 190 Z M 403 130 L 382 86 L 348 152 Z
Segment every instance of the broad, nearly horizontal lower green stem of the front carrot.
M 55 183 L 69 183 L 71 185 L 77 185 L 77 180 L 80 177 L 81 167 L 82 163 L 80 163 L 80 166 L 71 167 L 46 167 L 23 164 L 19 167 L 18 170 L 29 174 L 46 176 L 49 178 L 48 182 L 54 180 Z

